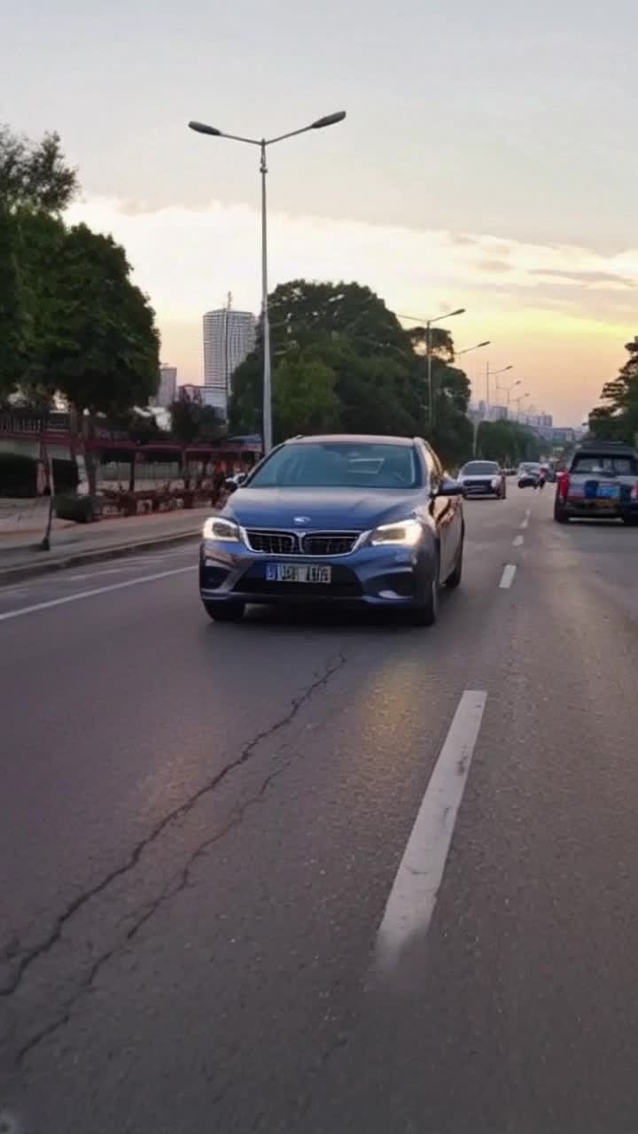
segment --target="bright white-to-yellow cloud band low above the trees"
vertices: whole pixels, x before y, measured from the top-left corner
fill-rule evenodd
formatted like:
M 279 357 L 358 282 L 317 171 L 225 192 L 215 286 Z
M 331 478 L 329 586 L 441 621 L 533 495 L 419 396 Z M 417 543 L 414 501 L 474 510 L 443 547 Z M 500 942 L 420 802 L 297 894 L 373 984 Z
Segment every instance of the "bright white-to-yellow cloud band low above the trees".
M 124 244 L 156 307 L 162 357 L 177 364 L 181 381 L 201 380 L 204 311 L 221 306 L 228 290 L 235 306 L 259 311 L 260 215 L 247 205 L 151 210 L 95 197 L 74 204 L 68 220 Z M 493 365 L 529 374 L 532 400 L 566 422 L 594 405 L 636 332 L 628 293 L 638 279 L 638 248 L 605 256 L 489 232 L 272 212 L 269 249 L 270 288 L 297 277 L 358 280 L 394 311 L 418 318 L 464 307 L 450 323 L 459 348 L 490 339 Z M 464 361 L 478 383 L 485 352 Z

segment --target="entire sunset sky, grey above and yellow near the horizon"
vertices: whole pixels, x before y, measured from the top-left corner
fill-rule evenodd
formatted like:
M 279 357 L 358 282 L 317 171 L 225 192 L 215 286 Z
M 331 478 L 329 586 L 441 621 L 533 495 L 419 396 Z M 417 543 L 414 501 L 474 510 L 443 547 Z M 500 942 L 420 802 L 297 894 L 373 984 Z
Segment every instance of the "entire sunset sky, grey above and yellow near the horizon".
M 358 280 L 450 324 L 475 396 L 512 365 L 538 409 L 579 423 L 638 332 L 630 44 L 611 0 L 0 0 L 0 120 L 57 129 L 72 219 L 112 231 L 151 296 L 162 357 L 200 381 L 201 314 L 259 305 L 249 146 L 274 135 L 270 284 Z

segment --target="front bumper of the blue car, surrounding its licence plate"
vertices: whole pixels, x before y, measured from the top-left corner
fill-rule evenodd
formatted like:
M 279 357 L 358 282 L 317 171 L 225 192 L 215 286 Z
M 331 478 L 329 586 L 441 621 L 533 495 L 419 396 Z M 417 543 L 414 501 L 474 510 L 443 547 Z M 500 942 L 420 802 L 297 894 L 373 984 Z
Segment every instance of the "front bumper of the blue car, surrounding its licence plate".
M 329 583 L 285 583 L 267 578 L 272 564 L 330 567 Z M 343 556 L 274 556 L 244 544 L 203 540 L 200 594 L 204 602 L 335 603 L 410 607 L 423 593 L 434 570 L 434 540 L 415 548 L 361 547 Z

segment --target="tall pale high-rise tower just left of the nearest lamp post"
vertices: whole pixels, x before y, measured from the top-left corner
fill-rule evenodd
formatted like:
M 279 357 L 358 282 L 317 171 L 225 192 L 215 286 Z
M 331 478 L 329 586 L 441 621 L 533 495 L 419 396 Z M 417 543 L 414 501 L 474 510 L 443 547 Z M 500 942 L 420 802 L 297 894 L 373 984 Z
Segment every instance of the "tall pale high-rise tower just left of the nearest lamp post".
M 204 335 L 204 405 L 213 406 L 226 416 L 228 398 L 233 392 L 232 380 L 237 366 L 254 347 L 255 319 L 250 311 L 234 311 L 228 306 L 207 311 L 203 316 Z

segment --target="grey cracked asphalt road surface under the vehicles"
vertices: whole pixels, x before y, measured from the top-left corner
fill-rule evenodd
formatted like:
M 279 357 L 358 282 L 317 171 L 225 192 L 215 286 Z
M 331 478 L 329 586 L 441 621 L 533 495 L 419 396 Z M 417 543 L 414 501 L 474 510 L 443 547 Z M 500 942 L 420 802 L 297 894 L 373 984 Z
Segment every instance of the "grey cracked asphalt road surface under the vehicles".
M 0 592 L 0 1129 L 635 1134 L 638 532 L 551 506 L 430 631 Z

